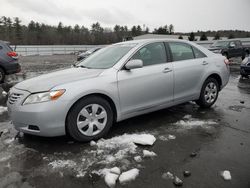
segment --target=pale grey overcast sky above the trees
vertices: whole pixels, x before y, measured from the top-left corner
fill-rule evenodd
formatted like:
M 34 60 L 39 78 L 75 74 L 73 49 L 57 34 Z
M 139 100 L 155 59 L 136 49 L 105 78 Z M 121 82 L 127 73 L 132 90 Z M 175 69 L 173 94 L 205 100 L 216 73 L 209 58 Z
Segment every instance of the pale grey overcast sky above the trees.
M 175 31 L 239 29 L 250 31 L 250 0 L 0 0 L 0 16 L 45 24 L 84 25 L 100 22 L 144 24 L 150 28 L 173 24 Z

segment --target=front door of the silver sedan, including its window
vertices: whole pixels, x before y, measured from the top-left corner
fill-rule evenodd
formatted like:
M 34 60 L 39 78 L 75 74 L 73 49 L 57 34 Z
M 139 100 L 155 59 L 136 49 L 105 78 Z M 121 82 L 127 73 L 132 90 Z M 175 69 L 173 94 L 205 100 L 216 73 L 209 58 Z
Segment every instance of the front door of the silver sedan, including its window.
M 163 42 L 147 44 L 131 59 L 141 59 L 143 67 L 118 72 L 121 110 L 129 114 L 173 101 L 173 65 L 167 62 Z

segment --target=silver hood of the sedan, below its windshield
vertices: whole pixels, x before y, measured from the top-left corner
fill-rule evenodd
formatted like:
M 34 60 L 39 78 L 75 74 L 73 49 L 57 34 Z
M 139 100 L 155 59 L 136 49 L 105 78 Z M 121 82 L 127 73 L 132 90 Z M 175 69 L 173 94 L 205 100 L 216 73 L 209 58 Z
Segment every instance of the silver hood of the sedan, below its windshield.
M 25 80 L 14 87 L 31 93 L 49 91 L 60 84 L 96 77 L 103 71 L 103 69 L 69 68 Z

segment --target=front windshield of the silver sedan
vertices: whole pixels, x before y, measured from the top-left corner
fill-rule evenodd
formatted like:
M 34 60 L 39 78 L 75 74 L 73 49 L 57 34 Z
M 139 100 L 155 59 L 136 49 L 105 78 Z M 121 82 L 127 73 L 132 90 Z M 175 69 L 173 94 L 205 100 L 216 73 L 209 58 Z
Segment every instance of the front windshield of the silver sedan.
M 77 67 L 107 69 L 113 67 L 136 44 L 117 44 L 108 46 L 82 60 Z

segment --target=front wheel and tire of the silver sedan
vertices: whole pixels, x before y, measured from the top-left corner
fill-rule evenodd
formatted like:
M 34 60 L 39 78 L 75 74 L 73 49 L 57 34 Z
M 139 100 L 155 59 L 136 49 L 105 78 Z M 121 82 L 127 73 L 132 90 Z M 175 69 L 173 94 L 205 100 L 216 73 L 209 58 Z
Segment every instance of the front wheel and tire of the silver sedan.
M 108 133 L 113 124 L 113 114 L 105 99 L 97 96 L 83 98 L 67 115 L 67 132 L 79 142 L 97 140 Z

